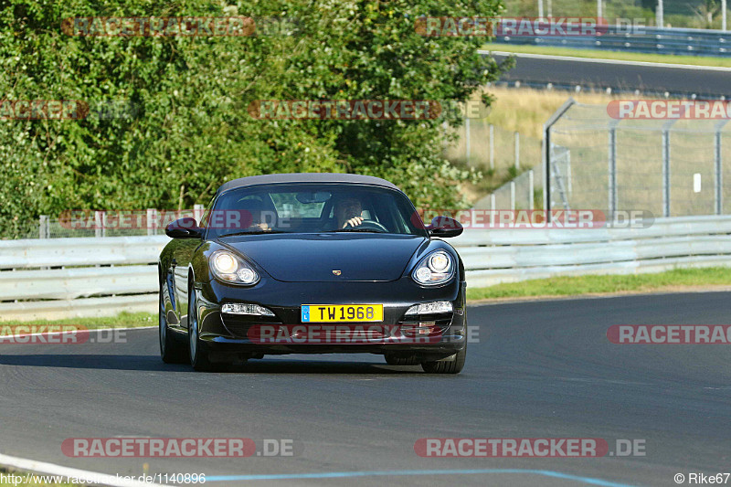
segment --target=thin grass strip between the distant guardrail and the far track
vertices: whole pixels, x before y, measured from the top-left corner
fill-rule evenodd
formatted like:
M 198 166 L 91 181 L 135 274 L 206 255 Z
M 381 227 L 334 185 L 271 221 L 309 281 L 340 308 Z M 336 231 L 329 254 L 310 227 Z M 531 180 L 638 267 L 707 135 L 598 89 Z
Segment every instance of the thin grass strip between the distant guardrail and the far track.
M 715 66 L 731 68 L 731 58 L 705 56 L 673 56 L 670 54 L 643 54 L 639 52 L 605 51 L 600 49 L 553 48 L 547 46 L 522 46 L 514 44 L 488 43 L 485 49 L 525 54 L 546 54 L 548 56 L 573 56 L 575 58 L 617 59 L 620 61 L 664 62 L 670 64 L 691 64 L 694 66 Z

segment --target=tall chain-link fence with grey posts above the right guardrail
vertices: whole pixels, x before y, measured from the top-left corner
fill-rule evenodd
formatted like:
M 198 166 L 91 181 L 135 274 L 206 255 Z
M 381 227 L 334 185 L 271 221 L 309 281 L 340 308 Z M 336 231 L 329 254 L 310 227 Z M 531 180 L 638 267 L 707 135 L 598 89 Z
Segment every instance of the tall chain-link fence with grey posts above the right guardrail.
M 655 217 L 731 212 L 728 120 L 620 120 L 567 101 L 546 123 L 550 208 L 649 210 Z M 545 177 L 545 175 L 544 175 Z

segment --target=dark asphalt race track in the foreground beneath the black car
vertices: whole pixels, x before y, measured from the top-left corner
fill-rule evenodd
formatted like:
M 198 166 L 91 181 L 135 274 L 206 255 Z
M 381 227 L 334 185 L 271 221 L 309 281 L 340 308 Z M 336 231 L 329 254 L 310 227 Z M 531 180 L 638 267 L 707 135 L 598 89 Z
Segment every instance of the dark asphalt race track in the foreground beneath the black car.
M 164 365 L 156 330 L 117 344 L 2 344 L 0 453 L 86 471 L 206 473 L 210 485 L 676 485 L 729 471 L 729 345 L 610 344 L 612 324 L 726 324 L 729 292 L 471 307 L 460 376 L 377 355 L 246 369 Z M 68 438 L 292 439 L 291 457 L 69 458 Z M 644 439 L 645 456 L 421 458 L 420 438 Z M 380 473 L 379 473 L 380 472 Z M 385 473 L 384 473 L 385 472 Z M 309 474 L 309 475 L 308 475 Z M 282 477 L 284 476 L 284 477 Z

